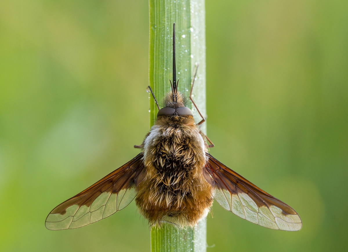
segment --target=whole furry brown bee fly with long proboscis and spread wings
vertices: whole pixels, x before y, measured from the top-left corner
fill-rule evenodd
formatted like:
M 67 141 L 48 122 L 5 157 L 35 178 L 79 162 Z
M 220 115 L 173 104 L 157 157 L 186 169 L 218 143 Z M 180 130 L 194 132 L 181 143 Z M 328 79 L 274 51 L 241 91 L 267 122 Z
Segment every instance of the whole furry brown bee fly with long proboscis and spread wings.
M 89 225 L 125 208 L 134 198 L 151 226 L 173 223 L 194 227 L 205 218 L 215 199 L 237 216 L 280 230 L 300 230 L 300 216 L 208 153 L 214 144 L 195 123 L 188 99 L 177 90 L 175 24 L 173 25 L 173 83 L 159 107 L 157 120 L 145 136 L 141 152 L 117 170 L 55 207 L 47 216 L 52 230 Z M 197 73 L 197 69 L 196 69 Z M 195 74 L 196 76 L 196 74 Z M 192 80 L 191 94 L 195 77 Z M 206 143 L 205 139 L 209 142 Z

